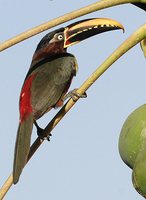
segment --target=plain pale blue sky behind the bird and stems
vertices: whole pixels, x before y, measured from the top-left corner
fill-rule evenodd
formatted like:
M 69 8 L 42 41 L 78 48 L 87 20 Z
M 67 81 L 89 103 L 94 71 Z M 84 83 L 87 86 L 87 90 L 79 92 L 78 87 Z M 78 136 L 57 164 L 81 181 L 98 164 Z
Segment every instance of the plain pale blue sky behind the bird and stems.
M 1 0 L 0 42 L 94 2 Z M 79 87 L 146 20 L 143 10 L 127 4 L 73 21 L 90 17 L 115 19 L 124 25 L 125 33 L 103 33 L 68 49 L 79 65 L 70 89 Z M 12 171 L 21 86 L 38 42 L 49 31 L 0 53 L 0 185 Z M 131 169 L 119 156 L 118 139 L 127 116 L 146 102 L 145 77 L 145 58 L 137 45 L 113 64 L 87 91 L 88 97 L 80 99 L 57 125 L 51 142 L 43 143 L 5 199 L 143 199 L 132 186 Z M 45 127 L 56 113 L 52 110 L 39 124 Z M 32 141 L 35 138 L 34 129 Z

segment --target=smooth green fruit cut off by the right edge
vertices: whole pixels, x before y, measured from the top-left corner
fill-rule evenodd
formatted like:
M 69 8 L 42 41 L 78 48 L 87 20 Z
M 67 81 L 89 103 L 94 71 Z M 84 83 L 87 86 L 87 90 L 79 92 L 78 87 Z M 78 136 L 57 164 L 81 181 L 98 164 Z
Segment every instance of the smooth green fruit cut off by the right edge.
M 122 160 L 133 169 L 135 189 L 146 197 L 146 104 L 125 121 L 119 138 L 119 152 Z

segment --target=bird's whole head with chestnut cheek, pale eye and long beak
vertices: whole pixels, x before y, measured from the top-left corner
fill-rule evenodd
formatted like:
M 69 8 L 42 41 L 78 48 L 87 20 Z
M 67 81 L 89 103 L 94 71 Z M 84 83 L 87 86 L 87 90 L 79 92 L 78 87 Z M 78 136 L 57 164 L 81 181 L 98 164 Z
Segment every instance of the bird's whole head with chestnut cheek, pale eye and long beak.
M 89 37 L 106 31 L 123 29 L 119 22 L 107 18 L 93 18 L 70 24 L 45 35 L 39 42 L 33 60 L 42 60 L 52 55 L 65 53 L 66 49 Z

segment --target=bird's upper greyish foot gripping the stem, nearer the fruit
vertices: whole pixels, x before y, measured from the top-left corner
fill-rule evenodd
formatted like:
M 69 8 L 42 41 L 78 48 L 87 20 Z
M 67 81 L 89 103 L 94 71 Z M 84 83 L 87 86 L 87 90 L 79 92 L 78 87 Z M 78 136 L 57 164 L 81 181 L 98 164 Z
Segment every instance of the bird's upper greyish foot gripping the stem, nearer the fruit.
M 73 99 L 73 101 L 76 101 L 76 100 L 77 100 L 77 99 L 76 99 L 77 97 L 78 97 L 78 98 L 86 98 L 86 97 L 87 97 L 87 94 L 86 94 L 86 92 L 84 92 L 84 94 L 80 95 L 80 94 L 77 92 L 77 89 L 74 89 L 74 90 L 68 92 L 68 93 L 64 96 L 63 101 L 65 101 L 66 99 L 68 99 L 68 98 L 70 98 L 70 97 Z

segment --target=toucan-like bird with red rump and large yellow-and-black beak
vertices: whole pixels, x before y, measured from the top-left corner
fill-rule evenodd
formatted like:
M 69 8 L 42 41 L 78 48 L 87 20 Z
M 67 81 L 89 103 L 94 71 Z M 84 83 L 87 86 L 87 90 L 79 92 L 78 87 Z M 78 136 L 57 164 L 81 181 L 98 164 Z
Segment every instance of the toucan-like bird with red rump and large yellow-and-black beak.
M 67 53 L 67 47 L 116 29 L 124 30 L 115 20 L 86 19 L 52 31 L 39 42 L 20 94 L 20 121 L 13 165 L 14 184 L 18 182 L 27 162 L 33 124 L 50 109 L 63 105 L 64 96 L 77 73 L 76 58 Z

